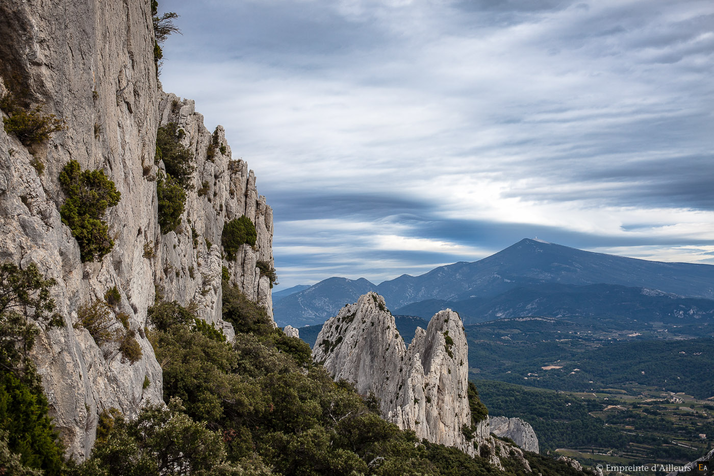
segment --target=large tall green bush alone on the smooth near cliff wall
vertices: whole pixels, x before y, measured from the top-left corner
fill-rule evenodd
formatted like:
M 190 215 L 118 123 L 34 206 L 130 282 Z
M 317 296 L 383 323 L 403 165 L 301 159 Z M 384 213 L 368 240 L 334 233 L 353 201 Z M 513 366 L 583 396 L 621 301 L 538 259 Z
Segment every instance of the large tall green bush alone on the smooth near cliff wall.
M 59 183 L 67 196 L 59 212 L 79 244 L 82 261 L 101 260 L 114 247 L 104 221 L 106 209 L 119 203 L 121 193 L 103 171 L 81 172 L 76 160 L 64 166 Z

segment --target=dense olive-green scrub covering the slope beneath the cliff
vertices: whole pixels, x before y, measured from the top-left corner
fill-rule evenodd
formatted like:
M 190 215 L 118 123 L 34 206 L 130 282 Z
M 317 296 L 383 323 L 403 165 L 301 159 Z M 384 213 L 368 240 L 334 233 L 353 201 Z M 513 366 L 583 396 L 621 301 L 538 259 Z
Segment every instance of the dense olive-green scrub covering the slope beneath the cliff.
M 517 463 L 499 472 L 385 422 L 375 402 L 333 382 L 307 344 L 274 329 L 265 310 L 228 282 L 223 319 L 236 328 L 233 344 L 175 302 L 149 309 L 169 409 L 147 407 L 134 422 L 105 416 L 79 475 L 525 474 Z M 531 459 L 544 476 L 578 474 Z

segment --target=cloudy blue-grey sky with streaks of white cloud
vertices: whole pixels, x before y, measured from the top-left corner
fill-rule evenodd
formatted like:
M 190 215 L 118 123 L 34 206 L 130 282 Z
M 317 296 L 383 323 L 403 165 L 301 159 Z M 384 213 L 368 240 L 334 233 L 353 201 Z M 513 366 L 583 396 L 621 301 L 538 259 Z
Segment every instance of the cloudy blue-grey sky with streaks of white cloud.
M 524 237 L 714 264 L 711 0 L 162 0 L 164 90 L 226 127 L 281 287 Z

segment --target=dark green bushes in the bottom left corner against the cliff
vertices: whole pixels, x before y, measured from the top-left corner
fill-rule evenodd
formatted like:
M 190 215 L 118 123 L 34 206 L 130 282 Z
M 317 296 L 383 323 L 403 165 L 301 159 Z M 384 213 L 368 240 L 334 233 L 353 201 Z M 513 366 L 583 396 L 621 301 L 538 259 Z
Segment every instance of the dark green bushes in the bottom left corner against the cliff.
M 64 448 L 59 443 L 34 363 L 29 357 L 39 333 L 35 322 L 61 324 L 49 288 L 34 264 L 0 267 L 0 474 L 27 468 L 59 475 Z M 13 472 L 18 471 L 18 472 Z

